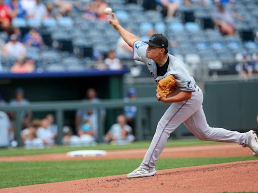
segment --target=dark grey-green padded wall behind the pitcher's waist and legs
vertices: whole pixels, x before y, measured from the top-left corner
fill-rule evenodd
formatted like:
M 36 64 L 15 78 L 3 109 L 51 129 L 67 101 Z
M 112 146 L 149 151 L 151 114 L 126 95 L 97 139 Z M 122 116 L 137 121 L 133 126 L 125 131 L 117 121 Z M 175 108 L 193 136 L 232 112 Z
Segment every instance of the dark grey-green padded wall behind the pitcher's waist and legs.
M 138 97 L 155 95 L 155 83 L 134 84 Z M 211 127 L 222 127 L 228 130 L 248 131 L 258 130 L 256 117 L 258 114 L 258 80 L 214 80 L 206 81 L 202 86 L 204 91 L 203 109 L 207 122 Z M 152 123 L 157 124 L 166 107 L 152 112 Z M 155 130 L 155 128 L 152 128 Z M 172 136 L 191 135 L 182 124 Z

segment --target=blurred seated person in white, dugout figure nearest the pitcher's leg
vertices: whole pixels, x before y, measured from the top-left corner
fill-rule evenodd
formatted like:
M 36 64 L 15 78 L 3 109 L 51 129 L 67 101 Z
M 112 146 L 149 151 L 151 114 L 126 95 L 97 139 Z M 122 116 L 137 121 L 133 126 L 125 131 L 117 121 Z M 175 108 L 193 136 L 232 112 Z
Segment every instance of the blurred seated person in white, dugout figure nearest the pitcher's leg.
M 118 115 L 117 123 L 113 124 L 105 136 L 106 142 L 111 144 L 127 144 L 134 141 L 135 137 L 131 134 L 132 128 L 126 124 L 123 115 Z

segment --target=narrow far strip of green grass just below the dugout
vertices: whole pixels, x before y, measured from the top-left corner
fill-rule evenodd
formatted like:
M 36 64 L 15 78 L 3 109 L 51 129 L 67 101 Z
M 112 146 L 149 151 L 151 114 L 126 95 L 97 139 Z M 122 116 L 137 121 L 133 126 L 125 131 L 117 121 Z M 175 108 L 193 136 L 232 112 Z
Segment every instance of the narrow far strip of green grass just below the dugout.
M 71 146 L 55 146 L 45 149 L 30 149 L 25 148 L 13 148 L 13 149 L 0 149 L 0 156 L 11 156 L 11 155 L 35 155 L 35 154 L 46 154 L 46 153 L 67 153 L 74 150 L 88 150 L 88 149 L 99 149 L 99 150 L 118 150 L 118 149 L 138 149 L 148 148 L 150 141 L 135 142 L 127 145 L 110 145 L 110 144 L 97 144 L 96 146 L 85 146 L 85 147 L 71 147 Z M 188 145 L 202 145 L 202 144 L 215 144 L 216 142 L 211 141 L 200 141 L 198 139 L 184 139 L 184 140 L 169 140 L 167 147 L 174 146 L 188 146 Z

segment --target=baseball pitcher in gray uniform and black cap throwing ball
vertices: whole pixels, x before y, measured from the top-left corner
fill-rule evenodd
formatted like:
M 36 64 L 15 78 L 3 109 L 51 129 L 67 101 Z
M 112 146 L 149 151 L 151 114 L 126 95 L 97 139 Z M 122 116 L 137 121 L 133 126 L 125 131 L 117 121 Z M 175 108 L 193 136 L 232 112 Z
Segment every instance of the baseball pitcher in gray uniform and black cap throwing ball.
M 158 100 L 171 104 L 157 125 L 142 163 L 133 172 L 127 174 L 127 178 L 155 175 L 155 161 L 164 149 L 170 133 L 181 123 L 184 123 L 187 129 L 200 140 L 238 143 L 243 147 L 249 147 L 258 156 L 255 131 L 239 133 L 223 128 L 212 128 L 208 125 L 202 107 L 203 92 L 190 75 L 187 66 L 178 58 L 168 54 L 169 42 L 164 35 L 154 34 L 148 42 L 145 42 L 147 44 L 145 45 L 137 36 L 119 25 L 114 13 L 111 15 L 112 18 L 108 22 L 134 49 L 133 59 L 144 62 L 158 82 Z M 163 78 L 167 77 L 170 80 L 163 81 L 165 85 L 159 84 Z M 166 84 L 169 85 L 166 86 Z M 162 91 L 169 93 L 162 93 Z

